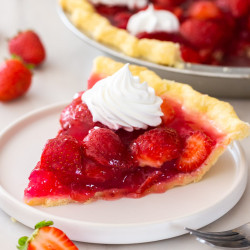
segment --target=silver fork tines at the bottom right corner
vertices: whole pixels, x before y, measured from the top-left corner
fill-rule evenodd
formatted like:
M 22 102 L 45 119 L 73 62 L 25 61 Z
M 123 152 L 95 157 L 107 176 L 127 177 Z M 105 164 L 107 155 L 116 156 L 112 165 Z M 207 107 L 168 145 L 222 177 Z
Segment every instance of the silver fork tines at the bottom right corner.
M 201 243 L 212 247 L 228 249 L 250 249 L 250 222 L 232 230 L 223 232 L 204 232 L 185 228 L 197 237 Z

